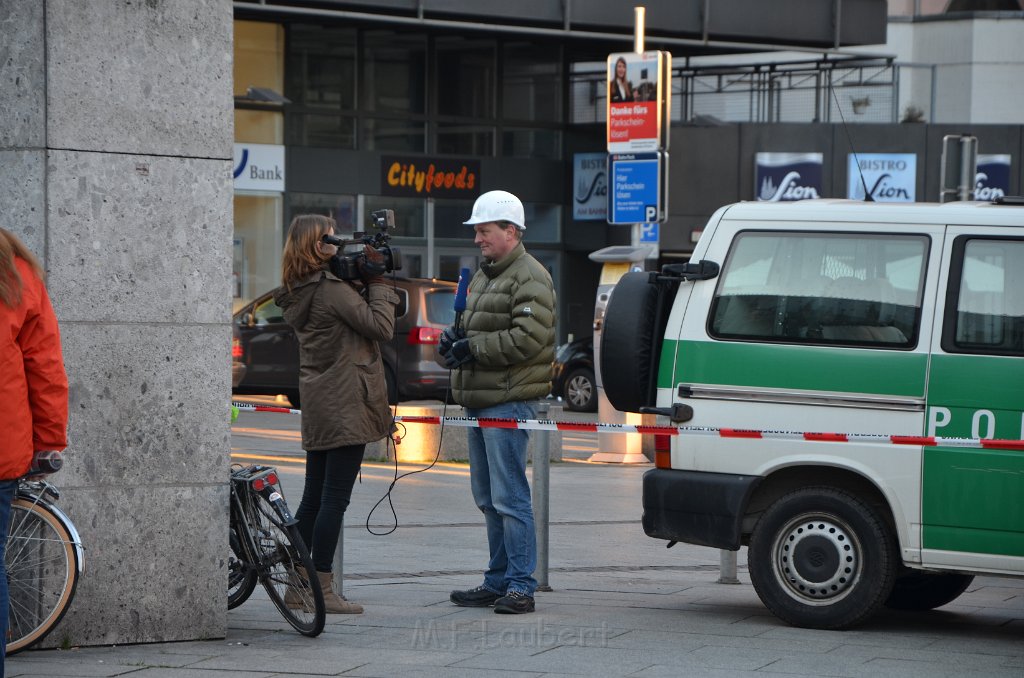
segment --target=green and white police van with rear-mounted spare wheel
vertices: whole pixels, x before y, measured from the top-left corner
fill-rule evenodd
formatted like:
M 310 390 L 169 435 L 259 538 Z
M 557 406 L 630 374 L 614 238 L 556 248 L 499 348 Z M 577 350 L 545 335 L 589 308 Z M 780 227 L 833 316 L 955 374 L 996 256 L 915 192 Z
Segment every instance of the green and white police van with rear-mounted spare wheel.
M 1024 203 L 724 207 L 690 263 L 620 281 L 602 332 L 611 405 L 682 427 L 644 531 L 748 546 L 780 619 L 1024 576 Z

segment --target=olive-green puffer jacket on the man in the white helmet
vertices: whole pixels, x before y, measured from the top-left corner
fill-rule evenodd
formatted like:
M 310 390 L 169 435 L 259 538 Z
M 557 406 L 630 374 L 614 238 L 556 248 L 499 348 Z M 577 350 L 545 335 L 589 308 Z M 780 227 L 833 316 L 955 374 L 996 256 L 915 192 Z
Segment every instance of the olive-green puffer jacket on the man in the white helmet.
M 464 327 L 475 359 L 452 374 L 456 402 L 488 408 L 551 392 L 555 290 L 522 243 L 473 276 Z

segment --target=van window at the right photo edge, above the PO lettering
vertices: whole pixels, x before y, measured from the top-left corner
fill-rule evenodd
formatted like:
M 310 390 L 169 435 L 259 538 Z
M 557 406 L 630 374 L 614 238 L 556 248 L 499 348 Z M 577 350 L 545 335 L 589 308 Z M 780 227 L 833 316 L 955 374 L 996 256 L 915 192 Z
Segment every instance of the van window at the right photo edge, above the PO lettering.
M 968 238 L 953 244 L 942 348 L 1024 355 L 1024 240 Z

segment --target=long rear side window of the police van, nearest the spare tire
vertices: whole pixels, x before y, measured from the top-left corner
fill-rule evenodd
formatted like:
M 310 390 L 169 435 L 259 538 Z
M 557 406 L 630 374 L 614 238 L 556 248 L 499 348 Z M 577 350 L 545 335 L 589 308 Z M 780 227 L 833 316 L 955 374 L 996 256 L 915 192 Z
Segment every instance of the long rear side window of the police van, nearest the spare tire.
M 719 277 L 709 334 L 912 348 L 928 248 L 925 236 L 740 232 Z

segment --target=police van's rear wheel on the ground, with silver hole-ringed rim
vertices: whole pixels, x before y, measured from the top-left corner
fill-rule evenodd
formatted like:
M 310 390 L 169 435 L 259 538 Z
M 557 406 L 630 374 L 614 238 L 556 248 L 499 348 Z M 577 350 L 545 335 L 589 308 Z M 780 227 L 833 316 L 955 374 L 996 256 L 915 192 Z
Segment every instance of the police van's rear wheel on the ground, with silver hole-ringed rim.
M 896 540 L 877 509 L 837 488 L 783 496 L 751 535 L 749 571 L 758 597 L 784 622 L 847 629 L 889 598 Z

